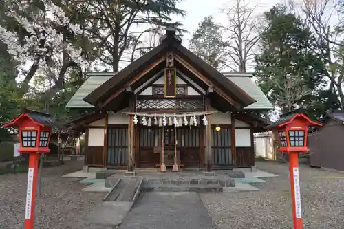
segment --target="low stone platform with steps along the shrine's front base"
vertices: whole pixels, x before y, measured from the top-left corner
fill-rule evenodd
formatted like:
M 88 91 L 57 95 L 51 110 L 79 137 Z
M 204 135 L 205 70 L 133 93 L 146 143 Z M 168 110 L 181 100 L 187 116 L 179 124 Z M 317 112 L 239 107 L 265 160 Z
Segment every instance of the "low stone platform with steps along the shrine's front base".
M 179 172 L 166 171 L 162 173 L 156 171 L 156 169 L 135 168 L 135 173 L 131 176 L 127 176 L 126 172 L 127 170 L 106 170 L 106 168 L 98 168 L 94 171 L 90 169 L 76 171 L 64 175 L 63 177 L 85 178 L 79 182 L 91 186 L 84 188 L 84 191 L 96 190 L 109 192 L 109 190 L 112 190 L 121 179 L 125 180 L 129 177 L 138 177 L 142 180 L 142 190 L 149 192 L 162 190 L 173 192 L 220 192 L 223 190 L 224 192 L 232 192 L 257 190 L 257 188 L 251 184 L 265 182 L 264 179 L 259 178 L 277 176 L 259 169 L 250 171 L 250 169 L 241 170 L 241 168 L 233 170 L 216 170 L 213 171 L 213 173 L 204 173 L 202 170 L 185 170 Z

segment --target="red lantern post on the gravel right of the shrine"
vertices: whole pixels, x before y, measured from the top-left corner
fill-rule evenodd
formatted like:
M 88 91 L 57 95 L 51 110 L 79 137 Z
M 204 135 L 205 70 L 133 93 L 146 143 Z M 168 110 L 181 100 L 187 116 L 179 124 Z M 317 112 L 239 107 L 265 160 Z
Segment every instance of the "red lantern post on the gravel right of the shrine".
M 266 129 L 277 131 L 279 151 L 288 153 L 290 166 L 290 188 L 292 193 L 292 218 L 294 229 L 302 229 L 301 191 L 299 182 L 299 153 L 308 153 L 308 127 L 321 126 L 308 118 L 303 109 L 281 115 L 277 122 Z

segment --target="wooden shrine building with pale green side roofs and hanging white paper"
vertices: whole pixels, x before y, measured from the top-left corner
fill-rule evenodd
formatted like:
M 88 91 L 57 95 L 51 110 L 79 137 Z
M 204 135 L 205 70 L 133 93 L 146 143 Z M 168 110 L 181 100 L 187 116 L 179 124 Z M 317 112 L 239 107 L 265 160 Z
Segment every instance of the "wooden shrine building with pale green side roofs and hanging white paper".
M 67 108 L 85 131 L 85 166 L 167 170 L 255 166 L 253 133 L 272 104 L 252 74 L 221 73 L 183 47 L 173 28 L 120 72 L 89 72 Z

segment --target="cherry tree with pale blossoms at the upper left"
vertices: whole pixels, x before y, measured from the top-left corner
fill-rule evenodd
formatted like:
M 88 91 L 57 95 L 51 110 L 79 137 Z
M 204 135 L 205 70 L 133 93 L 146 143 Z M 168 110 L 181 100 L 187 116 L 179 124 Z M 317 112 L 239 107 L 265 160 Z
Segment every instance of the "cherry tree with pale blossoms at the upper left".
M 42 94 L 52 96 L 63 87 L 72 69 L 85 69 L 83 50 L 73 42 L 83 31 L 52 1 L 8 0 L 3 11 L 7 23 L 0 24 L 0 41 L 6 43 L 8 52 L 19 63 L 19 77 L 23 78 L 19 96 L 28 92 L 36 74 L 53 81 Z

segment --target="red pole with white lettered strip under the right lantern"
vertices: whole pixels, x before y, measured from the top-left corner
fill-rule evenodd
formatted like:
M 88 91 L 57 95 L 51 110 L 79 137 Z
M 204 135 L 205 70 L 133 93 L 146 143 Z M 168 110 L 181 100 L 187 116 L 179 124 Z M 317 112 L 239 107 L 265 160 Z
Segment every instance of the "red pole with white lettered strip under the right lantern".
M 289 152 L 290 188 L 292 190 L 292 219 L 294 229 L 302 229 L 301 192 L 299 182 L 299 153 Z

